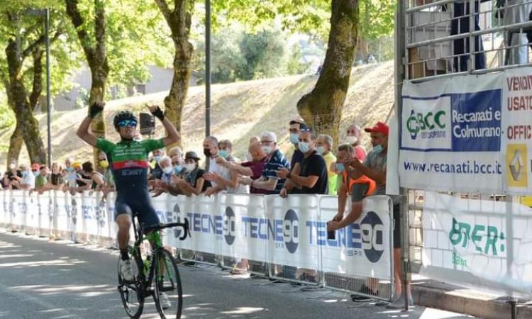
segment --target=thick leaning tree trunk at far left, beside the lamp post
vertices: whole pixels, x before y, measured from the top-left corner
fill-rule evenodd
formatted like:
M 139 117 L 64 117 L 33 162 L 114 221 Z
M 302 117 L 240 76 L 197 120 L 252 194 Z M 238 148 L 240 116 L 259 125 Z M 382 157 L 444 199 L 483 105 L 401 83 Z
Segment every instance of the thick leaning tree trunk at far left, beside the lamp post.
M 43 140 L 40 138 L 39 123 L 33 117 L 28 92 L 24 86 L 21 74 L 23 59 L 28 54 L 29 52 L 22 50 L 20 38 L 9 40 L 6 47 L 6 58 L 9 69 L 9 96 L 11 96 L 13 101 L 17 125 L 21 126 L 21 133 L 28 148 L 31 162 L 45 163 L 46 152 Z M 15 155 L 15 153 L 16 149 L 11 154 Z

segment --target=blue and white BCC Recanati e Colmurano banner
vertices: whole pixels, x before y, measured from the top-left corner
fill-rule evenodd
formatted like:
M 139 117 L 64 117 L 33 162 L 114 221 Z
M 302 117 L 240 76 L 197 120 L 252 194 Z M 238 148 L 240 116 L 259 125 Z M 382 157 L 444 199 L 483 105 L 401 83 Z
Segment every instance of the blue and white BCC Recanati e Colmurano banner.
M 501 97 L 499 74 L 405 82 L 399 123 L 401 186 L 500 192 Z

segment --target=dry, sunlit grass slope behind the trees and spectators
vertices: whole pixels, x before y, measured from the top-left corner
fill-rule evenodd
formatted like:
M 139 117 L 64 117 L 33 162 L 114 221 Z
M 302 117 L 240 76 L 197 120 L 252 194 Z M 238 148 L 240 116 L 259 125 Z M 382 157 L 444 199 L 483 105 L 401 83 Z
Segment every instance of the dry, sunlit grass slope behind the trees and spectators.
M 394 63 L 364 65 L 353 68 L 350 88 L 341 119 L 342 133 L 351 123 L 362 127 L 376 121 L 385 121 L 394 101 Z M 212 86 L 211 132 L 218 139 L 233 141 L 235 155 L 243 158 L 251 135 L 260 135 L 263 130 L 277 133 L 279 145 L 285 152 L 291 152 L 288 140 L 289 119 L 297 113 L 296 103 L 301 96 L 311 91 L 317 76 L 299 75 L 275 79 L 262 79 Z M 112 127 L 114 113 L 124 108 L 133 111 L 147 111 L 145 103 L 163 105 L 167 92 L 134 96 L 110 101 L 106 104 L 108 137 L 118 140 Z M 203 86 L 189 89 L 182 123 L 182 144 L 184 150 L 202 153 L 201 143 L 205 132 L 205 91 Z M 91 150 L 76 136 L 76 130 L 87 109 L 55 112 L 52 116 L 52 155 L 54 160 L 63 161 L 67 157 L 78 160 L 92 159 Z M 46 116 L 36 116 L 40 122 L 40 132 L 46 143 Z M 0 165 L 5 167 L 9 137 L 12 129 L 0 131 Z M 157 123 L 157 132 L 164 132 Z M 365 144 L 369 142 L 365 136 Z M 28 152 L 23 147 L 21 162 L 28 161 Z

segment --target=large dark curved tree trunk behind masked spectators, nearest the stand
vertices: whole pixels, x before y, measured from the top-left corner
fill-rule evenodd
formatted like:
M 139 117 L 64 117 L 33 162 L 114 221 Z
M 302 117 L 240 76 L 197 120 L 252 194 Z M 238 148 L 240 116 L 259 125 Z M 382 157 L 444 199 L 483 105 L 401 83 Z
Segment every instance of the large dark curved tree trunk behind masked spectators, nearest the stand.
M 338 141 L 343 103 L 349 88 L 358 33 L 358 0 L 333 0 L 331 31 L 323 71 L 316 86 L 301 97 L 297 110 L 316 132 Z

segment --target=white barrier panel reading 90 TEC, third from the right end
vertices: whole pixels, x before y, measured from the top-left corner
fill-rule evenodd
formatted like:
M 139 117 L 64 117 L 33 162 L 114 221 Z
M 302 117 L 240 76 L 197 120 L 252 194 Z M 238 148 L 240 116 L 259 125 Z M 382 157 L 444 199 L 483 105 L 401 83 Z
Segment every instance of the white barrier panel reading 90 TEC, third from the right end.
M 267 261 L 269 220 L 265 218 L 264 198 L 257 195 L 220 194 L 216 233 L 223 237 L 221 254 L 258 262 Z

